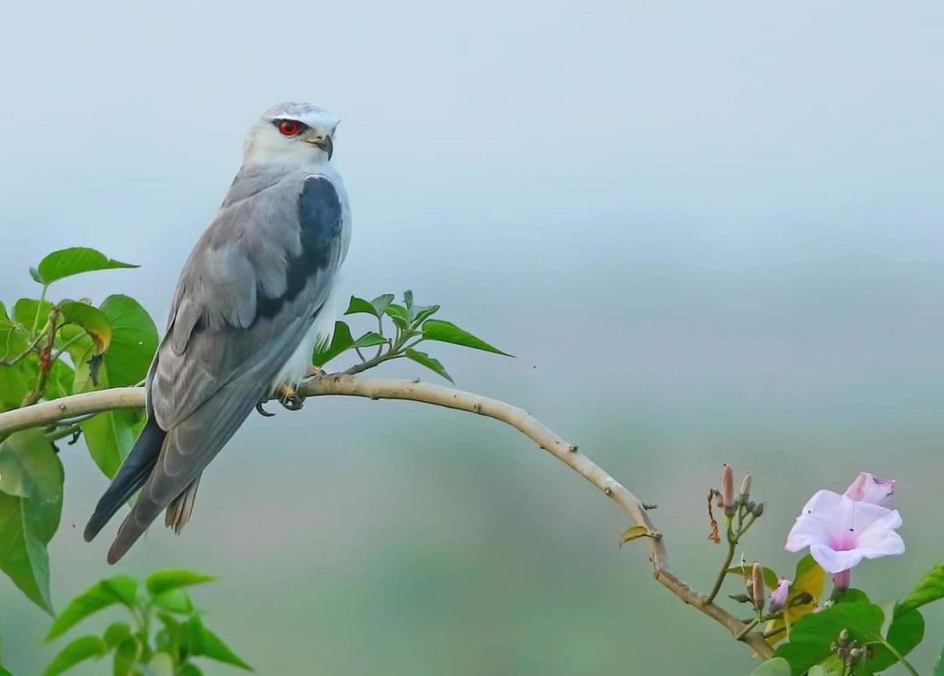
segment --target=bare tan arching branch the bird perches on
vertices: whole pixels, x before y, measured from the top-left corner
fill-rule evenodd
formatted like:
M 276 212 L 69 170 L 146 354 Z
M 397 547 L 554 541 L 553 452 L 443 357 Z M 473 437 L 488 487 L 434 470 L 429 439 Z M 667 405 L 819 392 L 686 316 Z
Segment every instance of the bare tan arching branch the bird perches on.
M 649 560 L 652 563 L 653 576 L 660 584 L 688 605 L 697 608 L 704 615 L 723 625 L 734 638 L 748 644 L 761 657 L 767 658 L 773 654 L 773 648 L 760 632 L 750 632 L 747 624 L 693 591 L 686 583 L 668 571 L 666 546 L 662 533 L 656 530 L 649 519 L 646 507 L 639 499 L 585 456 L 576 446 L 567 443 L 550 431 L 524 409 L 491 397 L 482 397 L 427 382 L 389 378 L 354 378 L 347 374 L 312 378 L 299 389 L 299 394 L 304 397 L 335 395 L 420 401 L 457 411 L 485 415 L 514 427 L 538 447 L 547 450 L 596 486 L 608 498 L 613 499 L 632 517 L 636 525 L 642 526 L 649 532 L 651 537 L 644 539 L 649 545 Z M 142 387 L 117 387 L 44 401 L 0 414 L 0 437 L 12 431 L 47 425 L 62 418 L 111 409 L 141 408 L 143 405 Z

